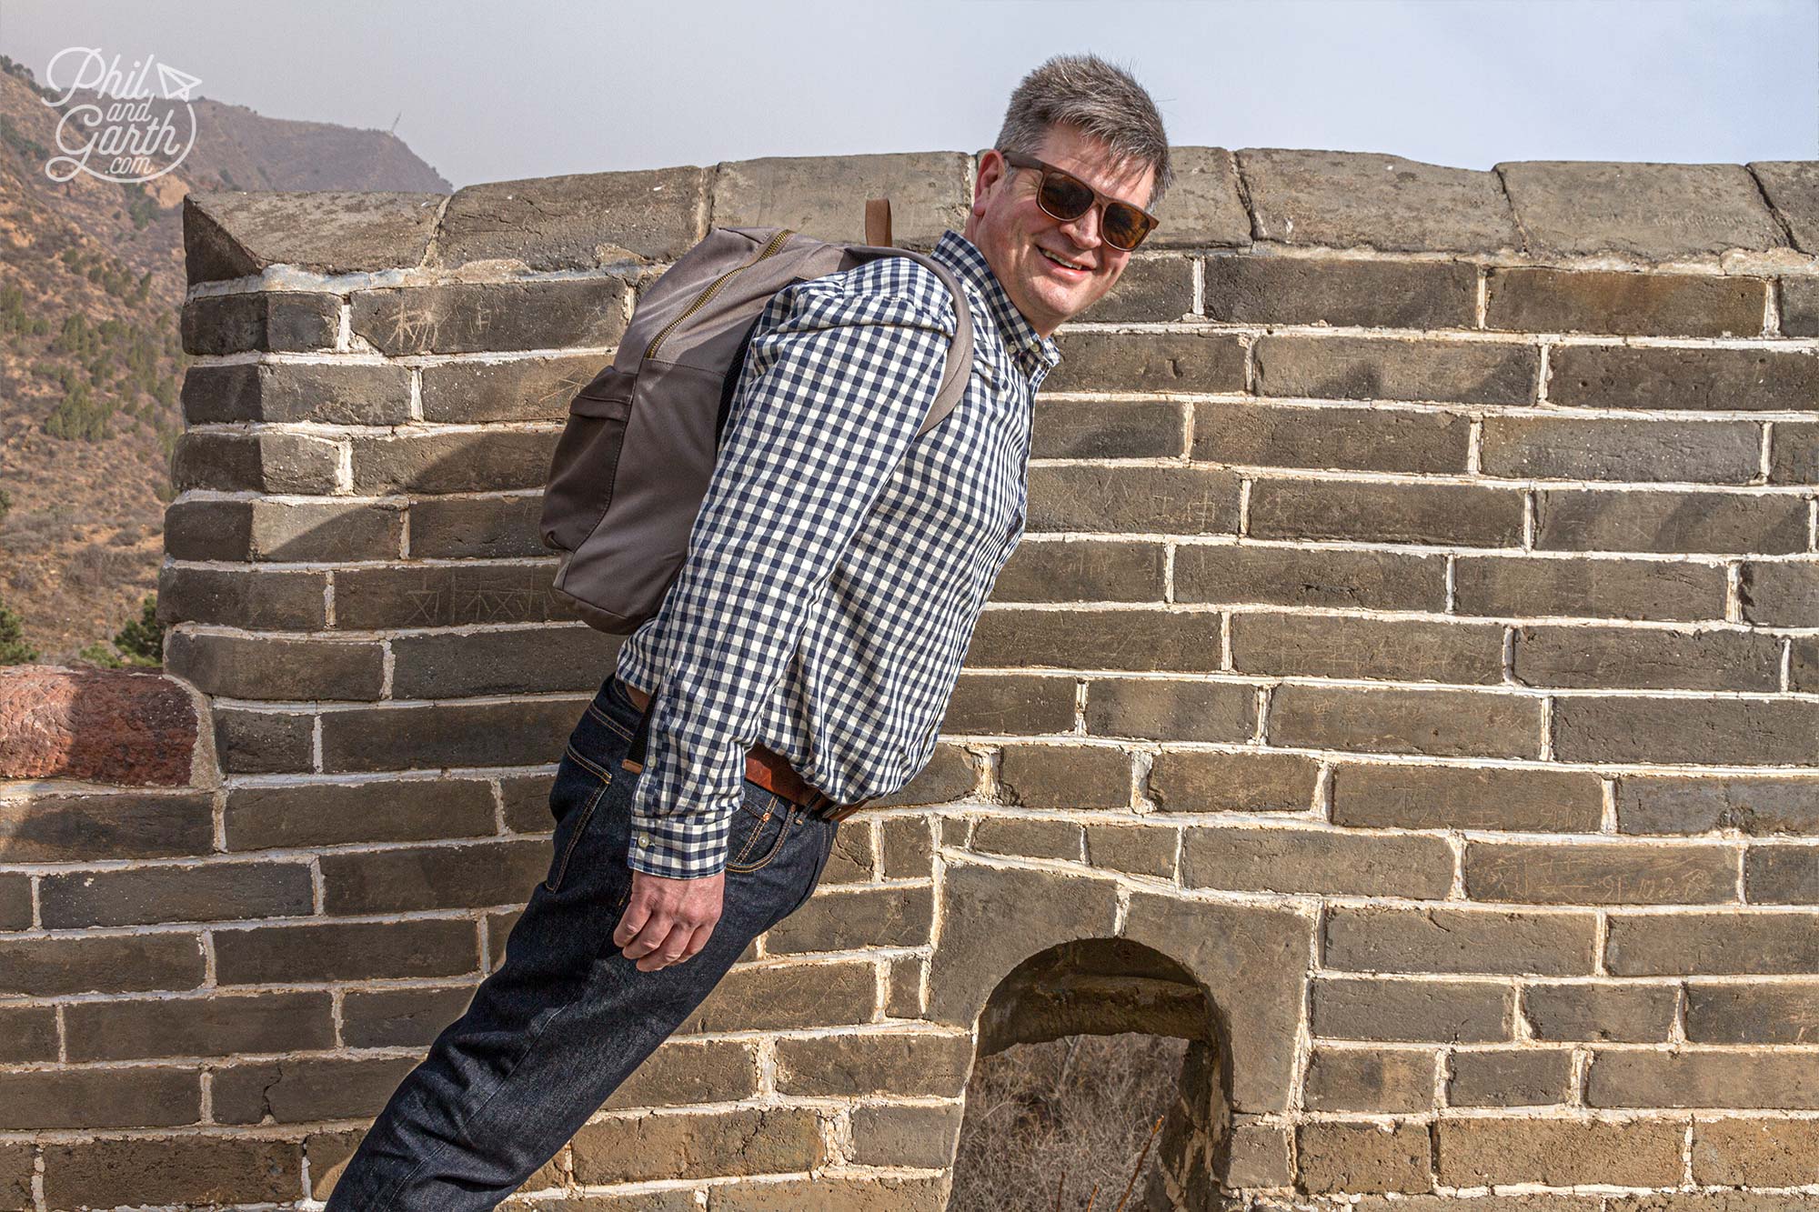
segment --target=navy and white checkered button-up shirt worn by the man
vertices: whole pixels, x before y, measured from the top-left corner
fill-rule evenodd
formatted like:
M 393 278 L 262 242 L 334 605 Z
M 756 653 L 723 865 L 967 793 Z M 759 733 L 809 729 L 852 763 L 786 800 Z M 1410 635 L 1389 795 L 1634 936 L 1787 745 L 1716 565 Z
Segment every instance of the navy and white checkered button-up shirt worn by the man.
M 966 284 L 973 375 L 917 429 L 955 335 L 953 295 L 884 257 L 764 308 L 688 559 L 618 650 L 651 692 L 629 863 L 713 875 L 746 750 L 782 753 L 848 804 L 935 753 L 973 622 L 1022 539 L 1030 409 L 1060 360 L 971 240 L 933 257 Z

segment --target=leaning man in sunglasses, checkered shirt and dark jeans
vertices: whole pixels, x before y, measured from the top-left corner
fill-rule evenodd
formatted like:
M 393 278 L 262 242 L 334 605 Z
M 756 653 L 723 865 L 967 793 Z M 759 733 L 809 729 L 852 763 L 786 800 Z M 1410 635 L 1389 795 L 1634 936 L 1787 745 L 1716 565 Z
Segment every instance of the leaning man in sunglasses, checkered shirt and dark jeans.
M 768 304 L 689 559 L 564 752 L 549 875 L 331 1212 L 495 1207 L 808 901 L 839 817 L 922 770 L 1022 535 L 1051 335 L 1119 280 L 1170 177 L 1148 93 L 1057 56 L 933 249 L 964 300 L 888 257 Z M 971 380 L 917 437 L 962 302 Z

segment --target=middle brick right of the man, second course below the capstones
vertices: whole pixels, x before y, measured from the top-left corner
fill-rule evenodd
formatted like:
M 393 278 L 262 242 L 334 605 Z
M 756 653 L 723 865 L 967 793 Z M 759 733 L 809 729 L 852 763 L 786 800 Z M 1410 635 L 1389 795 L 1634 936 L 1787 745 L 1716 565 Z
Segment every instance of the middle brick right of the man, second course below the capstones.
M 1533 404 L 1539 353 L 1486 340 L 1261 337 L 1257 395 Z

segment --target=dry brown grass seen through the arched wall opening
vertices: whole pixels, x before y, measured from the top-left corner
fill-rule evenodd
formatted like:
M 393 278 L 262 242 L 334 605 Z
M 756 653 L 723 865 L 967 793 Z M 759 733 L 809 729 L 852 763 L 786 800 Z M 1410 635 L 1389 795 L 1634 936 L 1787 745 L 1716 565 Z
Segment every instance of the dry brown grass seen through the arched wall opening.
M 1151 1128 L 1175 1099 L 1186 1050 L 1159 1035 L 1068 1035 L 982 1057 L 948 1210 L 1080 1212 L 1097 1187 L 1093 1212 L 1113 1212 L 1133 1172 L 1126 1212 L 1148 1208 Z

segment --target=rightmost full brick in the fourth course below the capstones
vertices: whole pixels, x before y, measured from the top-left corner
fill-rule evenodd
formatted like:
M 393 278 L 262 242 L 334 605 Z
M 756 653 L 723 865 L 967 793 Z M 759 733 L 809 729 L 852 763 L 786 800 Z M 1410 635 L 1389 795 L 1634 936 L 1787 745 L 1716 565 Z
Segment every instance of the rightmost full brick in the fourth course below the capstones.
M 1555 551 L 1806 550 L 1806 500 L 1723 491 L 1544 488 L 1535 493 L 1535 546 Z

